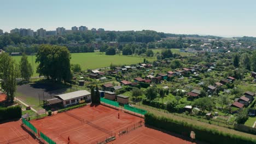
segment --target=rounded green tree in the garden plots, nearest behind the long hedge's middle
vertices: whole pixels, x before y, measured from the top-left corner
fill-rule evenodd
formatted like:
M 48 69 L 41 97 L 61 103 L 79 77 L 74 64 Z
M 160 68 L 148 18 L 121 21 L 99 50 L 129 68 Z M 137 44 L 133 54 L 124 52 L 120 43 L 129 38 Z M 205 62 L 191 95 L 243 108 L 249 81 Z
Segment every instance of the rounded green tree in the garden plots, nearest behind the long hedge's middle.
M 196 99 L 193 105 L 199 106 L 203 112 L 205 110 L 211 111 L 214 107 L 212 99 L 208 97 Z

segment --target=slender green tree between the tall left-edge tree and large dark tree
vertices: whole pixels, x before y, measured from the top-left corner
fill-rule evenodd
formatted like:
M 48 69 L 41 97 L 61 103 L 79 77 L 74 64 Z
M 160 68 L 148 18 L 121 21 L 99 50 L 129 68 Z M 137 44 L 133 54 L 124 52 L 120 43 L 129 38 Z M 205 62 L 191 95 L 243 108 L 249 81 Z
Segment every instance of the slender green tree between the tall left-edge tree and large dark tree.
M 30 77 L 33 74 L 33 69 L 31 64 L 27 60 L 27 56 L 25 53 L 22 54 L 22 57 L 20 59 L 20 75 L 25 81 L 29 81 Z

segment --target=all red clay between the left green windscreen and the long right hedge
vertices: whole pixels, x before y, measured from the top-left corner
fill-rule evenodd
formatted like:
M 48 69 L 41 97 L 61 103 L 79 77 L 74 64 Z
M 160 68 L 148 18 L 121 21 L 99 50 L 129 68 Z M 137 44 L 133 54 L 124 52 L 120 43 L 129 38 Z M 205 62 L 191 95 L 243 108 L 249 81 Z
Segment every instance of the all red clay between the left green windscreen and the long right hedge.
M 82 123 L 65 112 L 30 122 L 56 143 L 68 143 L 69 136 L 70 143 L 96 144 L 109 137 L 109 134 L 106 133 L 108 130 L 116 136 L 116 140 L 109 143 L 192 143 L 144 126 L 130 129 L 128 133 L 119 136 L 120 131 L 126 130 L 127 127 L 131 128 L 130 126 L 133 124 L 140 125 L 137 122 L 144 121 L 144 119 L 107 106 L 91 107 L 88 105 L 68 112 L 84 118 L 85 121 L 89 120 L 92 124 Z M 118 113 L 120 113 L 120 119 L 118 119 Z

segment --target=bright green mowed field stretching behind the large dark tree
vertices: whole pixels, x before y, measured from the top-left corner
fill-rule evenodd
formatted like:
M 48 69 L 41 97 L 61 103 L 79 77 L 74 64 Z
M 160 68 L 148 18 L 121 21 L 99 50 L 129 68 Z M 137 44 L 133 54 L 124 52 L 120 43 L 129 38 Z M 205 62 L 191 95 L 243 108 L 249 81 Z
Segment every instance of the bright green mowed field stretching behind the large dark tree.
M 13 56 L 16 63 L 20 62 L 21 56 Z M 92 52 L 92 53 L 71 53 L 71 64 L 80 64 L 82 70 L 86 69 L 96 69 L 109 67 L 111 63 L 117 65 L 130 65 L 136 63 L 143 63 L 142 57 L 133 57 L 133 56 L 107 56 L 101 52 Z M 148 61 L 155 61 L 155 58 L 147 58 Z M 28 61 L 32 64 L 34 74 L 33 76 L 38 76 L 36 74 L 36 68 L 38 63 L 36 63 L 36 56 L 28 56 Z

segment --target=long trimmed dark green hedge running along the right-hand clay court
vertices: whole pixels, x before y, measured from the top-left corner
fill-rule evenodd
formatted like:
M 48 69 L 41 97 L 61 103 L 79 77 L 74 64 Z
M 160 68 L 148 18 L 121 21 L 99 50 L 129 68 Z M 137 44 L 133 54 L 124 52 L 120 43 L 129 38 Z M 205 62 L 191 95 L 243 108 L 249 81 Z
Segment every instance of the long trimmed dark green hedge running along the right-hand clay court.
M 146 113 L 145 124 L 153 127 L 172 131 L 189 137 L 191 131 L 195 132 L 195 139 L 209 143 L 256 143 L 252 138 L 223 133 L 215 129 L 200 127 L 187 122 L 176 121 L 171 118 L 158 117 L 152 113 Z

